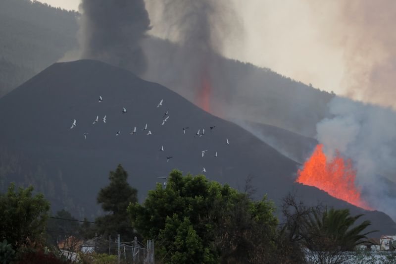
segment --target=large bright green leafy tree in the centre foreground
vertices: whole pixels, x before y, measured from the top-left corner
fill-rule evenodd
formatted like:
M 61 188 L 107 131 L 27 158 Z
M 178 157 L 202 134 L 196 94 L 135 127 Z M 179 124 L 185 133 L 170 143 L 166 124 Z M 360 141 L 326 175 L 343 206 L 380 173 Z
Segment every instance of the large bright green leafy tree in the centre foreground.
M 253 202 L 227 184 L 203 175 L 170 173 L 143 205 L 128 208 L 132 225 L 159 250 L 164 263 L 251 263 L 254 244 L 269 249 L 277 219 L 264 197 Z

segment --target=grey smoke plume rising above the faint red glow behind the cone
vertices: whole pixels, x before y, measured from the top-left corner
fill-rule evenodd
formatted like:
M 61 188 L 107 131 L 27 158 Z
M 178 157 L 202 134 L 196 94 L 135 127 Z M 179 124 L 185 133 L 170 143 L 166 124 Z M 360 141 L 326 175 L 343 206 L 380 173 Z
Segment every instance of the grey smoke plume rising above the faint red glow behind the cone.
M 223 40 L 239 29 L 237 15 L 224 0 L 148 0 L 154 21 L 152 34 L 178 47 L 156 53 L 149 62 L 147 78 L 176 90 L 205 110 L 213 109 L 213 76 L 221 76 L 219 53 Z M 153 54 L 149 44 L 147 53 Z M 158 60 L 162 62 L 158 62 Z M 158 64 L 172 65 L 156 68 Z

